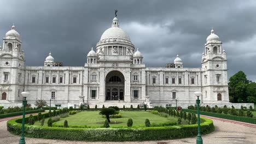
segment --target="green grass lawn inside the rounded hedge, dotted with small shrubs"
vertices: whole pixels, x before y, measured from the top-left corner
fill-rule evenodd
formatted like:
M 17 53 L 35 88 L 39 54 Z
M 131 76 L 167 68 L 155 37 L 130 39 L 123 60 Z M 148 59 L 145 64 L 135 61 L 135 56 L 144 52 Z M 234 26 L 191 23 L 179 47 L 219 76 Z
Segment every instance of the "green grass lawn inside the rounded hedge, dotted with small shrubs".
M 84 111 L 79 112 L 75 115 L 69 115 L 69 117 L 61 118 L 57 124 L 63 124 L 65 119 L 68 121 L 68 125 L 87 125 L 89 127 L 101 127 L 105 121 L 101 115 L 100 111 Z M 164 123 L 164 122 L 177 122 L 177 117 L 161 117 L 159 115 L 154 115 L 146 111 L 120 111 L 122 118 L 110 118 L 111 122 L 121 122 L 119 124 L 110 124 L 110 127 L 123 126 L 126 127 L 127 120 L 132 118 L 133 126 L 144 126 L 145 119 L 148 118 L 150 123 Z M 44 125 L 47 125 L 48 118 L 45 119 Z M 184 120 L 183 120 L 184 121 Z M 101 123 L 102 122 L 102 123 Z M 183 122 L 184 123 L 184 122 Z M 39 125 L 36 122 L 35 125 Z

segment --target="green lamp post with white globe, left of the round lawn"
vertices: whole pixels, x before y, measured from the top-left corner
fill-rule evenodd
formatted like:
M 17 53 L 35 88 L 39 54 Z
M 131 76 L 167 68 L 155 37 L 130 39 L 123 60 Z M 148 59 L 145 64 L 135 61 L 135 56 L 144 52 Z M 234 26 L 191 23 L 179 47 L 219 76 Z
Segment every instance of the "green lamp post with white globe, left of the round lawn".
M 19 144 L 25 144 L 25 137 L 24 137 L 24 130 L 25 130 L 25 111 L 26 111 L 26 105 L 27 105 L 27 100 L 26 98 L 28 96 L 30 96 L 29 92 L 22 92 L 21 93 L 22 97 L 23 97 L 23 118 L 22 118 L 22 130 L 21 130 L 21 136 L 20 136 L 20 141 Z

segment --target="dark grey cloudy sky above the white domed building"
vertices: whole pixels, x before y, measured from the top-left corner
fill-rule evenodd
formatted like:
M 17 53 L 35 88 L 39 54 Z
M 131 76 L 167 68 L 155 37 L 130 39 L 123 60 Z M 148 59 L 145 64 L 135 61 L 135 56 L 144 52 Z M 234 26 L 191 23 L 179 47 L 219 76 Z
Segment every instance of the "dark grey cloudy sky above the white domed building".
M 256 80 L 256 1 L 0 1 L 0 37 L 15 23 L 26 65 L 55 61 L 83 66 L 91 47 L 119 25 L 144 56 L 147 67 L 164 67 L 177 53 L 184 67 L 201 67 L 211 28 L 228 57 L 229 77 L 245 71 Z M 0 42 L 2 45 L 2 42 Z

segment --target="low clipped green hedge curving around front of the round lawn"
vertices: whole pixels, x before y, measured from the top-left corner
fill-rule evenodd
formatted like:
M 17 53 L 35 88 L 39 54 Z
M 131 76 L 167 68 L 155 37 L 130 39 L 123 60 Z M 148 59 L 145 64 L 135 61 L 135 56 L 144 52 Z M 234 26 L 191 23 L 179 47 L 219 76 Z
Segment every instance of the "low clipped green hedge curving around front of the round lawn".
M 44 113 L 48 117 L 48 113 Z M 34 115 L 37 118 L 37 115 Z M 201 123 L 201 133 L 214 131 L 213 121 L 208 118 Z M 7 122 L 8 131 L 21 134 L 22 118 L 11 119 Z M 26 117 L 26 122 L 28 117 Z M 59 128 L 25 125 L 25 136 L 43 139 L 72 140 L 72 141 L 146 141 L 180 139 L 197 135 L 197 124 L 173 125 L 165 127 L 141 128 Z

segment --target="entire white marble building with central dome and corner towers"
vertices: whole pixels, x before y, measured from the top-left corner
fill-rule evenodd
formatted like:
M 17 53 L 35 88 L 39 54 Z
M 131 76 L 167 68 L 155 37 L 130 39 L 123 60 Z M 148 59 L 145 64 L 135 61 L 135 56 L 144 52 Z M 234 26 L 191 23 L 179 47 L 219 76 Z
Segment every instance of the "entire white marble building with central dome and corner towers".
M 201 68 L 184 68 L 177 55 L 166 68 L 149 68 L 142 53 L 120 28 L 117 17 L 87 55 L 84 67 L 66 67 L 49 53 L 43 66 L 24 65 L 24 51 L 15 26 L 5 34 L 0 50 L 0 105 L 21 105 L 21 92 L 28 91 L 28 103 L 44 99 L 51 104 L 77 107 L 117 105 L 136 107 L 195 104 L 194 92 L 201 91 L 202 104 L 230 105 L 227 59 L 218 35 L 206 39 Z M 143 47 L 141 47 L 143 49 Z M 43 61 L 43 59 L 42 59 Z M 246 104 L 244 104 L 246 105 Z M 237 105 L 237 107 L 240 107 Z

